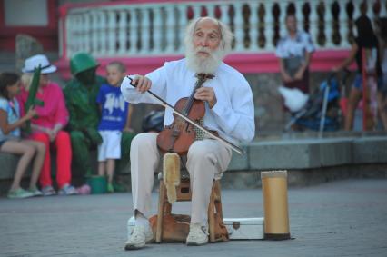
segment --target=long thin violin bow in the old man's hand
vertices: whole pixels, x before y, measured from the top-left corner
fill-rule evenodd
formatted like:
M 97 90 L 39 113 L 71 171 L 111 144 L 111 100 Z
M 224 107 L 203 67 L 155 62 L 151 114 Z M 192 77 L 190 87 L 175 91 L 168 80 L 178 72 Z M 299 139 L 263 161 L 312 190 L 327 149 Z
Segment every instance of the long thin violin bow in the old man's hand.
M 133 79 L 129 76 L 126 76 L 129 80 L 130 80 L 130 83 L 133 87 L 136 87 L 135 84 L 132 84 L 133 82 Z M 181 112 L 179 112 L 178 110 L 174 109 L 174 106 L 172 106 L 171 104 L 168 104 L 167 102 L 165 102 L 162 98 L 160 98 L 157 94 L 154 94 L 152 91 L 148 90 L 147 93 L 151 94 L 155 99 L 157 99 L 158 101 L 160 101 L 160 104 L 164 106 L 164 108 L 170 108 L 172 109 L 172 111 L 174 112 L 174 114 L 177 114 L 179 117 L 181 117 L 182 119 L 184 119 L 186 122 L 190 123 L 190 124 L 193 124 L 195 127 L 197 127 L 198 129 L 202 130 L 204 133 L 207 133 L 211 138 L 215 139 L 215 140 L 218 140 L 220 143 L 223 143 L 223 145 L 225 146 L 228 146 L 230 147 L 231 149 L 233 149 L 233 151 L 235 151 L 236 153 L 239 153 L 239 154 L 243 154 L 243 149 L 236 146 L 235 144 L 225 140 L 224 138 L 212 133 L 211 131 L 209 131 L 208 129 L 206 129 L 205 127 L 203 127 L 201 124 L 197 124 L 195 121 L 193 121 L 191 118 L 185 116 L 184 114 L 182 114 Z

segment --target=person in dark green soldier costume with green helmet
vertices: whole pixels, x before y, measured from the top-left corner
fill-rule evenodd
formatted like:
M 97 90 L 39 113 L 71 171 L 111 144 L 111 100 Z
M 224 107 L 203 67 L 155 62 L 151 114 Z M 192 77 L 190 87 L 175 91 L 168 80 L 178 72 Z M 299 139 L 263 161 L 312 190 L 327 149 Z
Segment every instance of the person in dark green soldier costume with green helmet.
M 97 126 L 100 120 L 100 111 L 96 103 L 101 84 L 106 80 L 96 74 L 99 64 L 86 53 L 74 54 L 70 60 L 73 79 L 65 86 L 65 100 L 70 114 L 68 130 L 73 147 L 75 166 L 86 176 L 94 173 L 90 160 L 90 149 L 96 149 L 102 143 Z M 121 141 L 122 158 L 117 168 L 122 169 L 130 158 L 130 143 L 134 133 L 123 133 Z

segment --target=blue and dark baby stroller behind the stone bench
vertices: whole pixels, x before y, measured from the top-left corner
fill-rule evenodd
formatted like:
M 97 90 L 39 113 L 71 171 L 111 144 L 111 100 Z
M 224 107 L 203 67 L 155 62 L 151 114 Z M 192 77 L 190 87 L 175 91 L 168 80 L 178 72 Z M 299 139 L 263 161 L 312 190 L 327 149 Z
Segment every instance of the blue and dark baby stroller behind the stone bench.
M 303 131 L 336 131 L 340 129 L 340 85 L 335 74 L 331 74 L 327 80 L 315 90 L 306 104 L 292 113 L 292 119 L 285 125 L 285 132 L 291 128 Z

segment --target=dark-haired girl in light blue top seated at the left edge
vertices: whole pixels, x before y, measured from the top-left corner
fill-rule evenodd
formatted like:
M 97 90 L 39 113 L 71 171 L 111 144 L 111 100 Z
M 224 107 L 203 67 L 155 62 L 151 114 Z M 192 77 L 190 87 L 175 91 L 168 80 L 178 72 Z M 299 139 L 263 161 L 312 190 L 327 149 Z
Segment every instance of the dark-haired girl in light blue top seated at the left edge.
M 20 86 L 18 74 L 0 74 L 0 152 L 21 155 L 8 198 L 42 195 L 36 188 L 36 183 L 45 160 L 45 144 L 20 138 L 20 127 L 36 114 L 35 109 L 31 108 L 25 116 L 20 118 L 19 104 L 15 99 L 15 95 L 20 92 Z M 29 190 L 26 191 L 20 186 L 20 182 L 34 156 Z

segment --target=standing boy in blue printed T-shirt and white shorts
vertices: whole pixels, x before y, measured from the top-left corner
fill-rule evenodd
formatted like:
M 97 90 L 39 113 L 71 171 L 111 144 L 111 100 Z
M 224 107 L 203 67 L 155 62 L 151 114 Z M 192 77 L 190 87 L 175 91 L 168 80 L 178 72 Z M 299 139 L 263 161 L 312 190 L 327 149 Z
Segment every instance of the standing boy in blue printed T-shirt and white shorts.
M 113 175 L 115 159 L 121 158 L 122 132 L 132 131 L 130 127 L 132 107 L 124 101 L 121 94 L 121 82 L 125 76 L 125 66 L 119 62 L 112 62 L 106 66 L 106 79 L 97 96 L 100 104 L 101 121 L 98 131 L 103 143 L 98 146 L 98 174 L 107 173 L 107 192 L 113 193 Z

